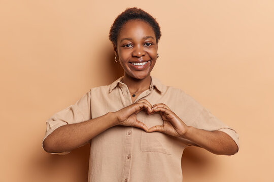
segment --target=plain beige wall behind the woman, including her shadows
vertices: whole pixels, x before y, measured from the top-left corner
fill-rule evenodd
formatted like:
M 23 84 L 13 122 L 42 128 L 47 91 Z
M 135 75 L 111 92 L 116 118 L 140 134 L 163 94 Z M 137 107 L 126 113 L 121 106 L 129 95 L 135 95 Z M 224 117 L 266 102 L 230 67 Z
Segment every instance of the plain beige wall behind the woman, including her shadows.
M 240 135 L 234 156 L 187 149 L 184 181 L 274 181 L 274 2 L 265 0 L 2 0 L 0 181 L 87 180 L 89 146 L 45 153 L 45 121 L 122 75 L 108 33 L 134 6 L 161 26 L 152 75 L 185 90 Z

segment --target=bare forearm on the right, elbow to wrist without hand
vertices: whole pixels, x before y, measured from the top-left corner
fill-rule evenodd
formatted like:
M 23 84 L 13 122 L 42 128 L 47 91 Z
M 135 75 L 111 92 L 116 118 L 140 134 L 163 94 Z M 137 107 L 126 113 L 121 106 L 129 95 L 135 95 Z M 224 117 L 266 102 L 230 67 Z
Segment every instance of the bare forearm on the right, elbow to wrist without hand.
M 234 140 L 222 131 L 206 131 L 188 126 L 183 138 L 214 154 L 233 155 L 238 151 Z

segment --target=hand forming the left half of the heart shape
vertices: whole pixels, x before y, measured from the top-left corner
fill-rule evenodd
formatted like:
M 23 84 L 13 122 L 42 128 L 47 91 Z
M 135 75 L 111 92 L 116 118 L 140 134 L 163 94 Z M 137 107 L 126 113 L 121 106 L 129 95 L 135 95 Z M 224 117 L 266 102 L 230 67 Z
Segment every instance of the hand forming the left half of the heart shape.
M 142 110 L 146 110 L 147 114 L 150 115 L 152 113 L 151 108 L 151 104 L 145 99 L 124 107 L 123 109 L 114 112 L 117 118 L 116 124 L 138 127 L 148 132 L 148 127 L 143 122 L 137 119 L 136 114 L 138 114 Z

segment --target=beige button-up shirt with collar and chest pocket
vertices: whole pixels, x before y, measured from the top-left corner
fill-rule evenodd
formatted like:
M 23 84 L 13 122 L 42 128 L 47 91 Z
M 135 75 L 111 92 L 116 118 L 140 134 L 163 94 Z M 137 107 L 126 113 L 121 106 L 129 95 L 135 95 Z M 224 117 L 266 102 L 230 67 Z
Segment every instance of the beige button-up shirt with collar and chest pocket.
M 233 129 L 181 89 L 165 86 L 155 77 L 151 78 L 150 88 L 135 102 L 146 99 L 151 105 L 164 103 L 187 125 L 223 131 L 238 145 L 238 134 Z M 132 104 L 129 90 L 121 80 L 122 77 L 110 85 L 90 89 L 75 105 L 54 114 L 46 122 L 44 139 L 62 125 L 90 120 Z M 163 122 L 159 114 L 147 115 L 143 111 L 137 118 L 148 128 Z M 121 125 L 111 127 L 90 141 L 88 181 L 182 181 L 181 157 L 189 145 L 193 144 L 161 132 L 147 133 Z

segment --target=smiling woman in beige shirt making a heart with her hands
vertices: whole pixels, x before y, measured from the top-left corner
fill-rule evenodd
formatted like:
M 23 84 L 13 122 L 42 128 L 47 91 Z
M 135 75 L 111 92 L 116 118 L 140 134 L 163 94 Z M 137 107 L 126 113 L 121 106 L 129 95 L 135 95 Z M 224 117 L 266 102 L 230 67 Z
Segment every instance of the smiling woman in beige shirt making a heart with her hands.
M 233 155 L 238 135 L 182 90 L 150 75 L 160 27 L 141 9 L 120 14 L 110 30 L 124 76 L 92 88 L 47 121 L 45 151 L 90 143 L 89 181 L 182 181 L 187 146 Z M 164 104 L 163 104 L 164 103 Z

